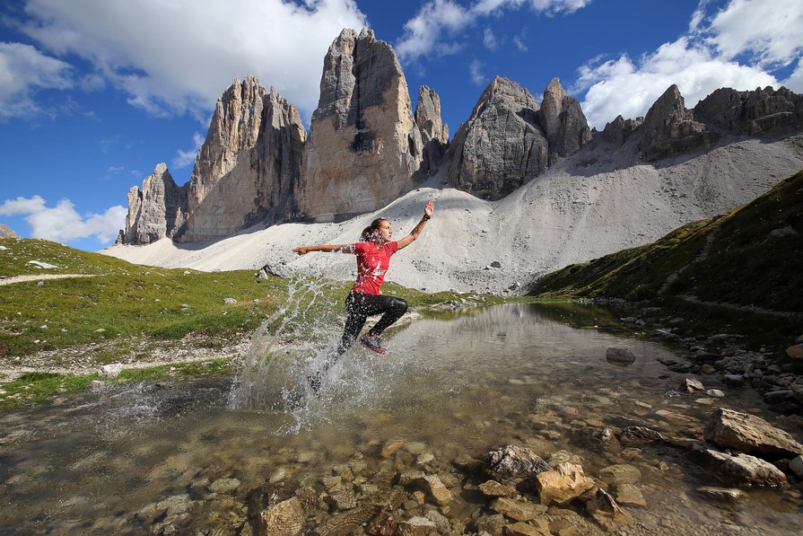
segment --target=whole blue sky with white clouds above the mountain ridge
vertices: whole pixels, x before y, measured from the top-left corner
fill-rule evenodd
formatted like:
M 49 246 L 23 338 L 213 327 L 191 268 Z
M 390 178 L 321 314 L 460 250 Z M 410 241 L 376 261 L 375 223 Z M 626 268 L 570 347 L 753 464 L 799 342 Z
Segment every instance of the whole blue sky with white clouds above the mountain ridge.
M 12 0 L 0 7 L 0 223 L 100 250 L 157 163 L 189 179 L 214 103 L 255 75 L 309 128 L 327 48 L 370 27 L 413 106 L 454 135 L 495 75 L 541 100 L 554 77 L 589 124 L 643 116 L 676 83 L 803 92 L 800 0 Z

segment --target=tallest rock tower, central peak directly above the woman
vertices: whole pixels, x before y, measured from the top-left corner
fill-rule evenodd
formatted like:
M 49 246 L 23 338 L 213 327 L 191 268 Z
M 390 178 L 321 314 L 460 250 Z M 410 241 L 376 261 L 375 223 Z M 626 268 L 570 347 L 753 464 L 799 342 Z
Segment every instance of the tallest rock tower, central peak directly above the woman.
M 423 144 L 396 53 L 373 31 L 344 30 L 327 52 L 304 149 L 300 215 L 340 220 L 415 187 Z

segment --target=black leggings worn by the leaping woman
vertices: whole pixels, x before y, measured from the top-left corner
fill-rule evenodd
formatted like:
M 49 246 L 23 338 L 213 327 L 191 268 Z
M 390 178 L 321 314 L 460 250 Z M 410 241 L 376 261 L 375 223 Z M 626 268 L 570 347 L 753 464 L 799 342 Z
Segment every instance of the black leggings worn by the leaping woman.
M 327 356 L 324 370 L 334 365 L 337 359 L 352 347 L 369 316 L 382 315 L 382 318 L 373 328 L 368 330 L 368 335 L 372 337 L 379 336 L 382 331 L 387 330 L 389 326 L 402 317 L 407 311 L 407 303 L 403 299 L 394 296 L 362 294 L 362 292 L 353 290 L 345 298 L 345 311 L 348 316 L 345 319 L 343 337 L 340 338 L 340 343 L 337 345 L 336 350 Z

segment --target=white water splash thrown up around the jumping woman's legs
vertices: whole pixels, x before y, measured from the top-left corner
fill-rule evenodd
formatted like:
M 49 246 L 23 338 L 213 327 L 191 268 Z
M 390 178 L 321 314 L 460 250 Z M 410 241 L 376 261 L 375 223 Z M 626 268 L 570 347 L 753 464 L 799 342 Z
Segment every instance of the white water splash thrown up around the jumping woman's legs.
M 323 389 L 314 395 L 306 377 L 321 369 L 343 331 L 342 318 L 321 319 L 321 310 L 331 306 L 324 303 L 329 299 L 324 292 L 327 284 L 318 274 L 292 277 L 284 304 L 254 332 L 249 356 L 232 384 L 229 409 L 286 417 L 282 426 L 271 431 L 275 435 L 297 434 L 354 411 L 375 408 L 413 357 L 406 351 L 405 337 L 394 337 L 400 344 L 394 344 L 390 356 L 380 357 L 354 345 L 329 368 Z

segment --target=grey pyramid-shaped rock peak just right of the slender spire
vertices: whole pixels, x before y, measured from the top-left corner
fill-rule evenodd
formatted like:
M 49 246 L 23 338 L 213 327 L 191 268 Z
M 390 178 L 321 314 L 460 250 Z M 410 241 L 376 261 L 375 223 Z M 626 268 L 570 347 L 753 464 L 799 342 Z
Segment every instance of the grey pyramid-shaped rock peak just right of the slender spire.
M 449 145 L 447 180 L 478 198 L 500 199 L 549 164 L 536 98 L 497 76 Z

